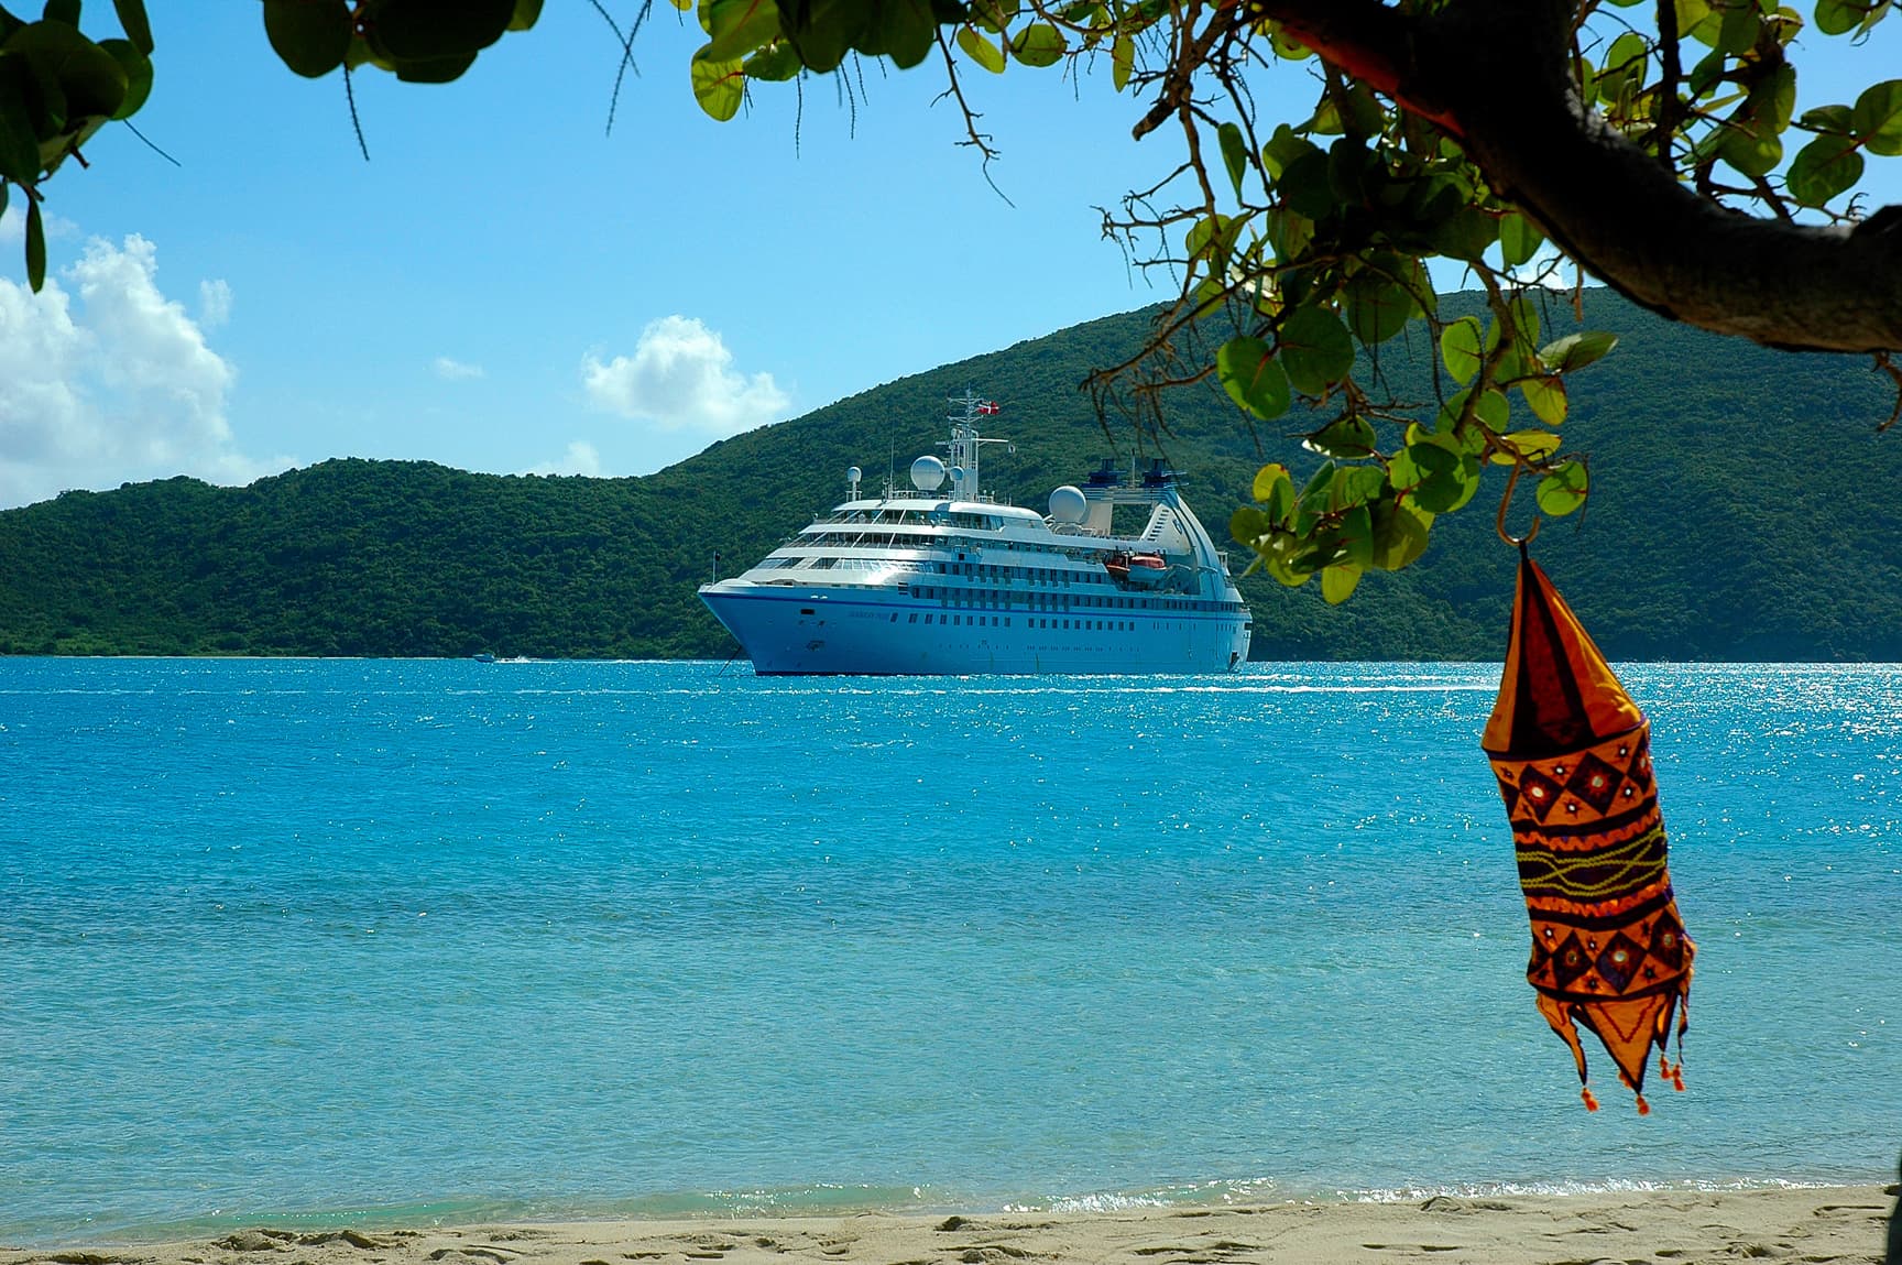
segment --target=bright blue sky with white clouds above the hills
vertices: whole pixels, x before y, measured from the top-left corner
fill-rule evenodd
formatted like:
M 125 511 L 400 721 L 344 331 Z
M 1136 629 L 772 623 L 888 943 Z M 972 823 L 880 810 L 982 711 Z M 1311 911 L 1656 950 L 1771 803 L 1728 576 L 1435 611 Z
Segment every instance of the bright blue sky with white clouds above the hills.
M 87 8 L 89 29 L 108 21 Z M 0 506 L 329 457 L 647 474 L 1164 297 L 1096 207 L 1177 148 L 1168 129 L 1130 141 L 1137 108 L 1107 65 L 1080 82 L 966 70 L 1006 202 L 957 145 L 957 110 L 932 105 L 936 74 L 867 67 L 856 110 L 808 84 L 803 118 L 791 86 L 767 86 L 715 124 L 687 86 L 698 27 L 666 4 L 612 135 L 620 49 L 590 6 L 553 0 L 458 84 L 356 76 L 367 164 L 342 78 L 287 72 L 257 6 L 152 17 L 137 124 L 181 165 L 101 133 L 91 169 L 46 188 L 40 297 L 17 207 L 0 221 Z M 1881 78 L 1894 49 L 1805 78 L 1805 105 Z M 1299 68 L 1265 91 L 1310 99 Z M 1877 204 L 1902 200 L 1875 177 Z

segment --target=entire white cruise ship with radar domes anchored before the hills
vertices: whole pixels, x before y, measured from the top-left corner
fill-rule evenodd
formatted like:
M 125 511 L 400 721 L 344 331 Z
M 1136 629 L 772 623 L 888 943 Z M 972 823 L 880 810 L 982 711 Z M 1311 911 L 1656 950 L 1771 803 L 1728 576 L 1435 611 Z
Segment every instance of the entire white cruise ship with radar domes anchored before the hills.
M 1109 462 L 1038 514 L 980 491 L 980 434 L 999 411 L 951 401 L 947 457 L 911 489 L 848 496 L 700 599 L 761 675 L 1231 671 L 1253 624 L 1227 557 L 1175 476 Z M 1122 514 L 1118 514 L 1118 510 Z M 1116 535 L 1124 519 L 1128 535 Z

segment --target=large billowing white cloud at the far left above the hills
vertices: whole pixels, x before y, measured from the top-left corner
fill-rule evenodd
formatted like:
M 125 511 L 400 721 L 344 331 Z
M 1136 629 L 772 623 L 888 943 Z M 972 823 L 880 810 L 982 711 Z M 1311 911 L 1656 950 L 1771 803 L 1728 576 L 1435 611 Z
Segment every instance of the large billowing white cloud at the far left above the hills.
M 228 287 L 226 287 L 228 289 Z M 34 295 L 0 278 L 0 504 L 68 487 L 281 470 L 240 453 L 224 417 L 236 371 L 158 289 L 158 251 L 95 238 Z

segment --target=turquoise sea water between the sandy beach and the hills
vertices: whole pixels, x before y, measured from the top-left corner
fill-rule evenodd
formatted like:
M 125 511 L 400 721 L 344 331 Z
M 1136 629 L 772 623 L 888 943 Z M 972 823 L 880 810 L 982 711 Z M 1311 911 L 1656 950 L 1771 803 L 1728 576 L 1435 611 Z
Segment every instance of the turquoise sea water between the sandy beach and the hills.
M 0 660 L 0 1242 L 1892 1179 L 1902 668 L 1622 670 L 1643 1119 L 1524 983 L 1497 675 Z

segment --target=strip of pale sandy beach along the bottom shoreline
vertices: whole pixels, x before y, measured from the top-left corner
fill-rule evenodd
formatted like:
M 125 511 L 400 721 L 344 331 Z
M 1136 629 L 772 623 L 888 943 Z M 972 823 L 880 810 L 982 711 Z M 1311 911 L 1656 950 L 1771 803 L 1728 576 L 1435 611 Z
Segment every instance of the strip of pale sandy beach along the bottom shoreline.
M 1641 1265 L 1883 1259 L 1894 1187 L 1286 1202 L 1118 1214 L 582 1221 L 285 1231 L 84 1250 L 0 1265 Z

